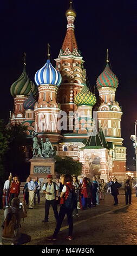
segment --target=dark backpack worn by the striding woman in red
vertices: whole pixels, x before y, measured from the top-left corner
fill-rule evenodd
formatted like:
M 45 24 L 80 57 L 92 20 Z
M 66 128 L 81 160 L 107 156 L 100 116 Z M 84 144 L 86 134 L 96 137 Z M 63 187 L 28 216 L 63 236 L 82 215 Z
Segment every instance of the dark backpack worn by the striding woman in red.
M 67 186 L 67 185 L 66 185 L 66 187 L 68 187 L 68 189 L 69 189 L 69 194 L 68 194 L 68 197 L 67 197 L 64 205 L 67 209 L 74 210 L 76 208 L 76 203 L 77 203 L 75 190 L 70 189 L 69 186 Z

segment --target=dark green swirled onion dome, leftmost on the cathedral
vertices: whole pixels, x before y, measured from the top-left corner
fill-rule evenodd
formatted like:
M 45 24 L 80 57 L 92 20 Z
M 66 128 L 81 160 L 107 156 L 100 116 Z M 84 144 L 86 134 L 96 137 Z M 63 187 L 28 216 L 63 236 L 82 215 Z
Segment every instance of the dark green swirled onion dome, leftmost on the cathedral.
M 18 80 L 12 83 L 10 87 L 10 93 L 13 97 L 17 95 L 29 96 L 32 87 L 32 94 L 34 97 L 37 96 L 37 87 L 34 83 L 32 83 L 25 71 L 25 65 L 21 76 L 19 76 Z

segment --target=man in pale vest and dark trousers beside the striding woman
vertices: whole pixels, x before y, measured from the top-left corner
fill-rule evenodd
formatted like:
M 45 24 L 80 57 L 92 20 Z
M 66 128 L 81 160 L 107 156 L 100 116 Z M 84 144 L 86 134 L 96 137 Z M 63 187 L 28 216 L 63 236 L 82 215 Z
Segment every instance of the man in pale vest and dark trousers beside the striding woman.
M 45 193 L 45 217 L 42 222 L 49 222 L 49 208 L 50 205 L 53 208 L 54 216 L 56 221 L 58 220 L 58 211 L 57 211 L 57 200 L 58 200 L 58 186 L 53 182 L 53 176 L 49 174 L 47 176 L 48 182 L 44 184 L 42 190 Z

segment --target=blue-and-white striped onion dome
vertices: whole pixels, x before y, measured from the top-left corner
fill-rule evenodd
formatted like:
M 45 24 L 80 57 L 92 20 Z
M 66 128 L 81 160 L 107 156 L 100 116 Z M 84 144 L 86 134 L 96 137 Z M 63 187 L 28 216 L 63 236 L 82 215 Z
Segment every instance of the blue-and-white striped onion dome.
M 53 84 L 55 86 L 60 86 L 61 80 L 62 77 L 60 72 L 51 65 L 49 59 L 35 74 L 35 82 L 37 86 L 40 84 Z

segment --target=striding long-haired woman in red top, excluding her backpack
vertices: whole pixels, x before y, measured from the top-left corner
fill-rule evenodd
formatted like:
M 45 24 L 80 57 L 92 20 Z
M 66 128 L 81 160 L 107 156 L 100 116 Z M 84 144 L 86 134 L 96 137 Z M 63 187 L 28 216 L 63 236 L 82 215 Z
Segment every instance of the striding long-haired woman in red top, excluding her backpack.
M 64 216 L 67 214 L 67 218 L 68 218 L 68 225 L 69 225 L 69 234 L 66 237 L 66 239 L 68 240 L 72 240 L 72 234 L 73 234 L 73 209 L 71 208 L 67 208 L 65 205 L 65 202 L 69 196 L 70 191 L 75 191 L 75 188 L 72 184 L 72 177 L 70 174 L 66 174 L 65 178 L 64 178 L 64 186 L 61 192 L 61 202 L 60 202 L 60 212 L 59 212 L 59 216 L 58 216 L 58 220 L 57 220 L 57 224 L 56 224 L 56 228 L 54 231 L 53 236 L 48 236 L 47 240 L 53 240 L 56 241 L 57 240 L 57 234 L 60 231 L 61 228 L 61 224 L 64 220 Z

